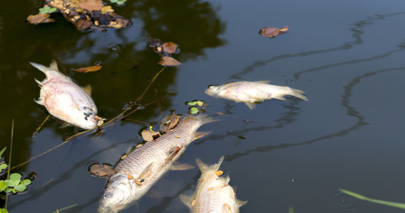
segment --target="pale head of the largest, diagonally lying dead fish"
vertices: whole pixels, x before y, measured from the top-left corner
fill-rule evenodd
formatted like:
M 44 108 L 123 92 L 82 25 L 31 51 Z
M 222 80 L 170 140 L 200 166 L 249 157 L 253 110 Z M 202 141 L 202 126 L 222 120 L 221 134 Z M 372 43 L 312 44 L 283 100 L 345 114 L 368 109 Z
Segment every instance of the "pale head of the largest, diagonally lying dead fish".
M 99 213 L 114 213 L 129 207 L 134 202 L 133 186 L 126 175 L 113 175 L 109 178 L 101 200 Z

